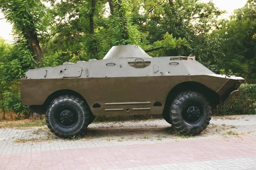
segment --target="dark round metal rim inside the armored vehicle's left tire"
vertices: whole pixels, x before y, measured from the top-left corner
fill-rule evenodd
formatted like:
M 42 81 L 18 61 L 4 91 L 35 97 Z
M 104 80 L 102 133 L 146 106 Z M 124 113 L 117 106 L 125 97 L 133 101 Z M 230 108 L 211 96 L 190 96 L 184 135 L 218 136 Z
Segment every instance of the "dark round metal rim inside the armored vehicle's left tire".
M 63 107 L 56 113 L 56 120 L 62 127 L 73 127 L 78 121 L 77 112 L 70 107 Z

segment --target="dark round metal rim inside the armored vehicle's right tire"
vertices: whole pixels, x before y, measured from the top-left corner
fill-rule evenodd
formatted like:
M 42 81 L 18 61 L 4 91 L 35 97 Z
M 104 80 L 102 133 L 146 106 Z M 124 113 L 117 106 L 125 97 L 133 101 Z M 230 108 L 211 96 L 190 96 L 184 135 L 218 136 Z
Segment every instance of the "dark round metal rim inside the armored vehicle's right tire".
M 203 118 L 203 109 L 199 103 L 189 103 L 182 112 L 183 119 L 191 124 L 197 124 Z

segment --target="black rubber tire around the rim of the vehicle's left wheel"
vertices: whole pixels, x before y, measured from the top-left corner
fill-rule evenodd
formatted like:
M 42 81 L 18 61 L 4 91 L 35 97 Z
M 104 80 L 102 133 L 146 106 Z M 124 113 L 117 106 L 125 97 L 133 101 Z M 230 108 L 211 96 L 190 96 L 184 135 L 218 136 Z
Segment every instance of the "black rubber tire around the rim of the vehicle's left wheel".
M 63 127 L 56 118 L 63 107 L 69 107 L 76 113 L 76 122 L 71 127 Z M 90 109 L 87 104 L 79 97 L 72 95 L 59 96 L 54 99 L 47 108 L 45 116 L 49 130 L 61 138 L 72 138 L 78 134 L 85 134 L 89 118 Z

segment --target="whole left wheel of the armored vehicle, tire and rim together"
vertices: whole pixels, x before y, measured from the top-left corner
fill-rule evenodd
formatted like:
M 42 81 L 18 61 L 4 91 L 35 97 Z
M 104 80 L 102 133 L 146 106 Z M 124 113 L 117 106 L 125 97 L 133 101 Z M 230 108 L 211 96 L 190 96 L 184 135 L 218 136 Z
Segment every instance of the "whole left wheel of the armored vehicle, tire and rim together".
M 87 130 L 90 109 L 76 96 L 59 96 L 50 103 L 45 119 L 49 130 L 56 136 L 71 138 Z

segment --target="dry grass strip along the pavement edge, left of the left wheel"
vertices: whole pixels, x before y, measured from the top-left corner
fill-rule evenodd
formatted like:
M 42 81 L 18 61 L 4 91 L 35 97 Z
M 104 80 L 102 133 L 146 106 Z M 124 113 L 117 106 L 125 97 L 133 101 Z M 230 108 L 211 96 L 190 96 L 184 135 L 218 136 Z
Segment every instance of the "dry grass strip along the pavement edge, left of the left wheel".
M 0 121 L 0 128 L 26 128 L 40 127 L 46 125 L 45 120 L 17 120 L 17 121 Z

